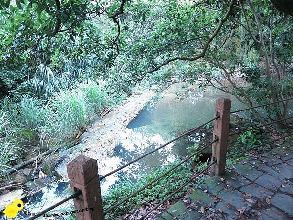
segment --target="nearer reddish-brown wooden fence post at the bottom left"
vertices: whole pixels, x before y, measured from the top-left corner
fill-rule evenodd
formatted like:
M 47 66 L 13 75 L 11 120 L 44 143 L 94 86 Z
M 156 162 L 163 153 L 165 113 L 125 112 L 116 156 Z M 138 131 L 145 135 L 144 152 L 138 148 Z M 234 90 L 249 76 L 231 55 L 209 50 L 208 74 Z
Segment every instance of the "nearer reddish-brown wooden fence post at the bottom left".
M 82 190 L 83 194 L 73 199 L 77 220 L 104 220 L 97 161 L 79 155 L 67 164 L 71 192 Z

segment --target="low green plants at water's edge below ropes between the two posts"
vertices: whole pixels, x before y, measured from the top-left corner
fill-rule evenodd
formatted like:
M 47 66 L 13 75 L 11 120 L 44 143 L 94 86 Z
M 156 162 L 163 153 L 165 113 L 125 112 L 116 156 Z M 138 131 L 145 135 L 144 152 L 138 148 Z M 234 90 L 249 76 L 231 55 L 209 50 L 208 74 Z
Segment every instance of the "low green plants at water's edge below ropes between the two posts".
M 126 198 L 136 190 L 142 188 L 149 182 L 151 182 L 156 177 L 162 175 L 167 170 L 178 164 L 178 161 L 170 163 L 165 167 L 154 168 L 148 174 L 142 174 L 138 177 L 138 180 L 132 182 L 130 179 L 125 178 L 115 184 L 107 194 L 103 197 L 103 208 L 107 210 L 112 205 L 117 204 L 122 199 Z M 118 206 L 115 210 L 111 211 L 105 216 L 106 219 L 113 219 L 113 216 L 118 216 L 121 213 L 129 213 L 137 205 L 144 206 L 153 201 L 158 202 L 165 199 L 170 193 L 174 192 L 182 184 L 186 183 L 192 176 L 191 165 L 185 163 L 172 172 L 168 173 L 166 176 L 162 177 L 160 180 L 154 182 L 148 188 L 138 193 L 136 196 L 129 198 L 125 203 Z M 180 197 L 184 194 L 185 190 L 180 191 L 175 197 Z

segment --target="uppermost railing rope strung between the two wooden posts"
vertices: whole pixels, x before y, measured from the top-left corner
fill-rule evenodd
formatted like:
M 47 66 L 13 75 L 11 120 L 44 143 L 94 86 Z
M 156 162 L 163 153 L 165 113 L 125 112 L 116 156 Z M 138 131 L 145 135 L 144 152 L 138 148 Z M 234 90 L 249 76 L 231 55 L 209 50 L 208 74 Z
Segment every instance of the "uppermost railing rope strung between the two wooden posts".
M 158 148 L 156 148 L 156 149 L 154 149 L 154 150 L 152 150 L 152 151 L 150 151 L 150 152 L 148 152 L 148 153 L 146 153 L 146 154 L 143 154 L 143 155 L 139 156 L 138 158 L 136 158 L 136 159 L 134 159 L 134 160 L 132 160 L 132 161 L 126 163 L 125 165 L 123 165 L 123 166 L 121 166 L 121 167 L 119 167 L 119 168 L 117 168 L 117 169 L 115 169 L 115 170 L 109 172 L 108 174 L 105 174 L 104 176 L 100 176 L 100 177 L 99 177 L 100 181 L 103 180 L 105 177 L 110 176 L 110 175 L 112 175 L 112 174 L 114 174 L 114 173 L 116 173 L 116 172 L 122 170 L 123 168 L 125 168 L 125 167 L 127 167 L 127 166 L 129 166 L 129 165 L 131 165 L 131 164 L 133 164 L 133 163 L 135 163 L 136 161 L 138 161 L 138 160 L 140 160 L 140 159 L 142 159 L 142 158 L 148 156 L 149 154 L 152 154 L 152 153 L 154 153 L 154 152 L 160 150 L 161 148 L 167 146 L 168 144 L 170 144 L 170 143 L 172 143 L 172 142 L 174 142 L 174 141 L 176 141 L 176 140 L 178 140 L 178 139 L 180 139 L 180 138 L 182 138 L 182 137 L 188 135 L 188 134 L 191 133 L 191 132 L 196 131 L 197 129 L 199 129 L 199 128 L 201 128 L 201 127 L 203 127 L 203 126 L 209 124 L 210 122 L 212 122 L 212 121 L 214 121 L 214 120 L 216 120 L 216 119 L 218 119 L 218 118 L 220 118 L 220 115 L 217 115 L 216 117 L 210 119 L 208 122 L 206 122 L 206 123 L 204 123 L 204 124 L 202 124 L 202 125 L 200 125 L 200 126 L 194 128 L 194 129 L 191 129 L 191 130 L 189 130 L 188 132 L 185 132 L 185 133 L 181 134 L 180 136 L 174 138 L 173 140 L 170 140 L 169 142 L 167 142 L 167 143 L 161 145 L 160 147 L 158 147 Z

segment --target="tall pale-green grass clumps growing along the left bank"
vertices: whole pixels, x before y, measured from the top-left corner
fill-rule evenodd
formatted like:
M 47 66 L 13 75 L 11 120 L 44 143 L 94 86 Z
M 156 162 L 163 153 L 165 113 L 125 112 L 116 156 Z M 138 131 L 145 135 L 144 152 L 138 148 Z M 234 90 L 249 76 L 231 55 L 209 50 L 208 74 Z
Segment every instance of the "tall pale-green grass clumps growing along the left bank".
M 50 93 L 45 100 L 33 94 L 22 95 L 19 102 L 9 97 L 0 101 L 1 174 L 21 162 L 24 150 L 38 154 L 76 141 L 91 120 L 122 100 L 113 98 L 103 80 L 77 83 Z

